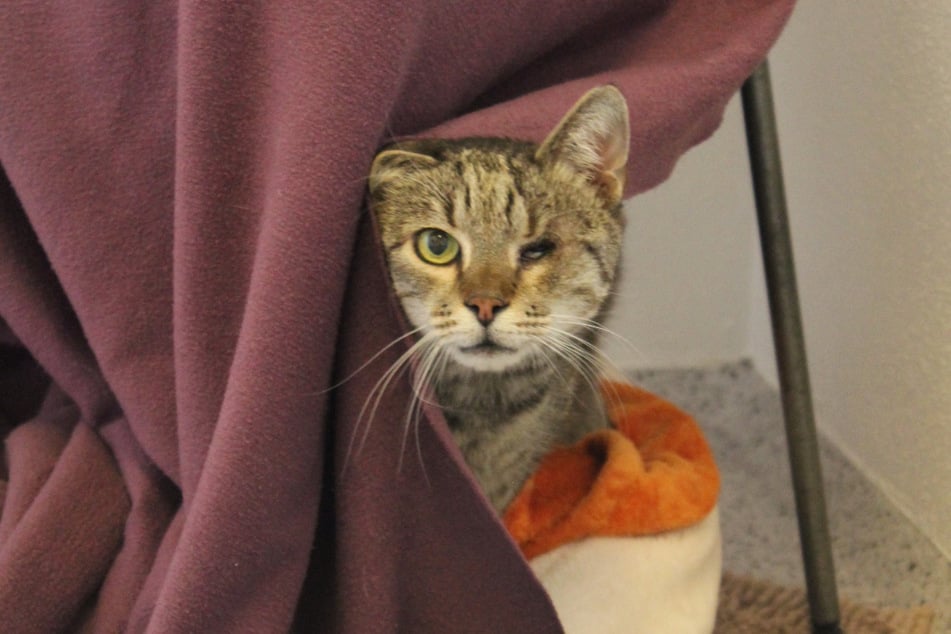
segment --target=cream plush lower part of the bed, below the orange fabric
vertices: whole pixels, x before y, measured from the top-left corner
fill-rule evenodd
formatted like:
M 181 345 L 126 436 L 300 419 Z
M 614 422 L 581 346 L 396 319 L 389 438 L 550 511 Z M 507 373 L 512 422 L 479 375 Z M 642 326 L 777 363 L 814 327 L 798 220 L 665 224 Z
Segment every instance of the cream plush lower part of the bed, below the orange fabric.
M 531 561 L 567 634 L 709 634 L 720 588 L 719 510 L 647 537 L 591 537 Z

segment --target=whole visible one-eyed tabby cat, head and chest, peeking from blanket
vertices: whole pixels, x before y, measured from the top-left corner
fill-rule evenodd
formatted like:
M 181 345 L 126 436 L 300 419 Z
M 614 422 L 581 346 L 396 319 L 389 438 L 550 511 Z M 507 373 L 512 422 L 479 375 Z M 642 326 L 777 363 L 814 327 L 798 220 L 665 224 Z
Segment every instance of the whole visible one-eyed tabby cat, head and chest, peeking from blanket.
M 620 255 L 628 136 L 624 98 L 601 86 L 541 145 L 405 141 L 373 162 L 418 379 L 499 513 L 553 446 L 608 424 L 595 320 Z

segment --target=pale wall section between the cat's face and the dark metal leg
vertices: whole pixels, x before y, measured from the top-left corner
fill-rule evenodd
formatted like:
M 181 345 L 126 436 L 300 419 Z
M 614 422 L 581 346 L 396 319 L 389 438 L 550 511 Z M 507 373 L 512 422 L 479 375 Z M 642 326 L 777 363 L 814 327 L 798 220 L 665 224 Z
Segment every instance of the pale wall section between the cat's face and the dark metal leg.
M 620 288 L 605 325 L 633 348 L 602 338 L 621 367 L 748 355 L 750 270 L 759 255 L 744 139 L 734 100 L 720 130 L 670 180 L 627 202 Z

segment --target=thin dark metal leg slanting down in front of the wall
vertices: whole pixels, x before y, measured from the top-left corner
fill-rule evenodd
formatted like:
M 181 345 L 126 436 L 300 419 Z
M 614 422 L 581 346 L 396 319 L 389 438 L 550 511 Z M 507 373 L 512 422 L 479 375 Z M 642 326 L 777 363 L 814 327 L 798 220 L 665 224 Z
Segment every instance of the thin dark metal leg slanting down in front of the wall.
M 835 568 L 765 61 L 743 84 L 742 98 L 813 632 L 838 633 Z

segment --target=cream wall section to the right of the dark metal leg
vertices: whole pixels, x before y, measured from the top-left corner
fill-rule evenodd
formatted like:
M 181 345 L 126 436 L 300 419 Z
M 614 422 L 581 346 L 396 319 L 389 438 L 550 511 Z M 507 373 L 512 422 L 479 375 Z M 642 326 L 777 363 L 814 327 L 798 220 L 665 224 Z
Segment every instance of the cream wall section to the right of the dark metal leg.
M 771 61 L 819 423 L 951 554 L 951 3 L 804 0 Z

